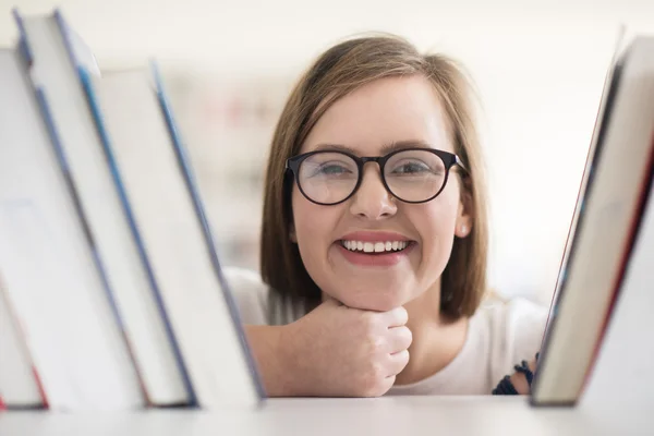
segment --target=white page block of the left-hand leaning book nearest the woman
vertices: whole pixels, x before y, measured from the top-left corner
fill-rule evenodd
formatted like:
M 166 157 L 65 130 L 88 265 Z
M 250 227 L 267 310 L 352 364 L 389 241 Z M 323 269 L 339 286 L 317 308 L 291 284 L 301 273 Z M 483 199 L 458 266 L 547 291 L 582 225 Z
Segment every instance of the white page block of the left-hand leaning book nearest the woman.
M 136 70 L 90 83 L 199 407 L 255 405 L 263 389 L 155 78 Z

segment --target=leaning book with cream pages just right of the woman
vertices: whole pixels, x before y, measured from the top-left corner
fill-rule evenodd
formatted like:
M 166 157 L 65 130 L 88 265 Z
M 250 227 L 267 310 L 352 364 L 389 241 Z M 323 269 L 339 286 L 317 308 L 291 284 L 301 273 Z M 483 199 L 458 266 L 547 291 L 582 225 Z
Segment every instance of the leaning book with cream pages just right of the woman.
M 620 50 L 605 94 L 532 386 L 533 405 L 579 401 L 623 291 L 654 164 L 654 37 L 637 36 Z

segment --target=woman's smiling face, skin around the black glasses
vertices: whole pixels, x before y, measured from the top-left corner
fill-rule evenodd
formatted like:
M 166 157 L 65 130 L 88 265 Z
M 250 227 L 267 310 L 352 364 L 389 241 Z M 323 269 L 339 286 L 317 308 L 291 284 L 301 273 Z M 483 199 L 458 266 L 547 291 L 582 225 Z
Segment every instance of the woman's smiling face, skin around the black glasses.
M 453 153 L 450 137 L 439 98 L 425 77 L 389 77 L 335 102 L 300 153 L 337 145 L 360 157 L 382 156 L 399 144 Z M 455 235 L 470 231 L 460 194 L 459 178 L 450 172 L 436 198 L 403 203 L 385 189 L 377 164 L 370 162 L 356 193 L 338 205 L 314 204 L 294 184 L 291 239 L 323 292 L 351 307 L 387 311 L 429 289 L 439 292 Z M 366 253 L 366 247 L 376 250 Z

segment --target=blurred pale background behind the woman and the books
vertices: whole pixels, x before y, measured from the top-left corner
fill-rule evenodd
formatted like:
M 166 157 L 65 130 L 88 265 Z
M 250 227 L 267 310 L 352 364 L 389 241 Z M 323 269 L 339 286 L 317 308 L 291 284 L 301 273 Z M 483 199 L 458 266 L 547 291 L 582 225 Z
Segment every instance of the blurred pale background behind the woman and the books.
M 61 8 L 102 70 L 159 63 L 222 262 L 253 269 L 269 141 L 308 63 L 371 31 L 457 58 L 481 102 L 491 283 L 546 304 L 619 27 L 654 32 L 653 0 L 0 0 L 0 45 L 14 7 Z

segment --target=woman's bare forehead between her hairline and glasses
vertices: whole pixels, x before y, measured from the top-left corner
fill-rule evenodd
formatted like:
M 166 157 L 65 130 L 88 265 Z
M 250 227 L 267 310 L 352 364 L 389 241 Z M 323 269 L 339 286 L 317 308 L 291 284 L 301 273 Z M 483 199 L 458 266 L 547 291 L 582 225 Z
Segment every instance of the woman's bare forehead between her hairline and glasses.
M 443 105 L 424 76 L 380 78 L 342 97 L 320 117 L 301 153 L 338 144 L 374 156 L 398 142 L 453 152 Z

